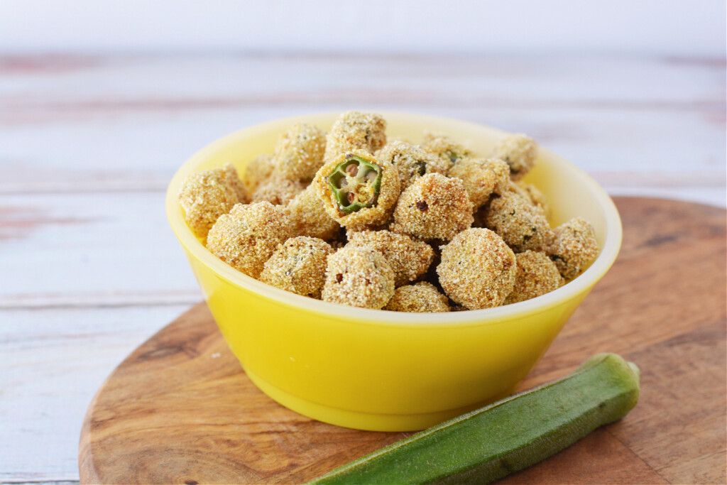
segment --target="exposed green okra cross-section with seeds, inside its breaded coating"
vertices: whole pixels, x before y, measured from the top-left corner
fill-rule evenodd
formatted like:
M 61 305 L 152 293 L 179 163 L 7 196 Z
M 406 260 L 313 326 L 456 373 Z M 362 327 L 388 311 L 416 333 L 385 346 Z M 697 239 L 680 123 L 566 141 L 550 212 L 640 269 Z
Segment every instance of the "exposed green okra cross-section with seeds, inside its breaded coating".
M 340 211 L 350 214 L 376 205 L 381 178 L 379 165 L 349 153 L 328 176 L 328 183 Z

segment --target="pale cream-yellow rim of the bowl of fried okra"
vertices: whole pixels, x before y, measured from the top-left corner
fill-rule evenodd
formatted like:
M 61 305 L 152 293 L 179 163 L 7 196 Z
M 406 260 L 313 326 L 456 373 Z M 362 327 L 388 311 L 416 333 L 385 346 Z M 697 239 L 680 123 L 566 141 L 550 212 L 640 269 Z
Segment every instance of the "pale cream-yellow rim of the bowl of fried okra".
M 385 119 L 409 118 L 412 119 L 412 121 L 415 119 L 417 122 L 430 121 L 432 124 L 444 121 L 447 123 L 462 124 L 463 126 L 468 125 L 476 129 L 486 129 L 491 132 L 498 133 L 499 135 L 507 134 L 507 132 L 487 127 L 482 124 L 446 118 L 443 116 L 425 116 L 417 113 L 401 113 L 392 111 L 377 111 L 377 113 L 380 113 Z M 294 124 L 295 122 L 305 121 L 305 119 L 313 116 L 331 116 L 332 119 L 334 119 L 339 114 L 340 112 L 308 113 L 307 115 L 266 121 L 262 124 L 256 124 L 252 127 L 239 129 L 236 132 L 225 135 L 194 153 L 179 169 L 177 169 L 177 172 L 174 174 L 174 177 L 172 177 L 172 180 L 166 190 L 166 216 L 169 219 L 172 231 L 174 231 L 177 239 L 179 239 L 180 244 L 182 244 L 192 257 L 196 258 L 196 260 L 209 268 L 209 270 L 212 270 L 213 273 L 217 273 L 217 275 L 224 278 L 231 284 L 241 286 L 246 290 L 260 294 L 262 297 L 281 302 L 285 305 L 318 313 L 321 314 L 321 316 L 326 316 L 328 318 L 340 319 L 345 313 L 347 321 L 357 321 L 358 323 L 385 326 L 471 326 L 495 324 L 498 321 L 511 320 L 513 318 L 531 315 L 547 308 L 555 308 L 556 306 L 562 305 L 574 297 L 577 297 L 582 292 L 587 292 L 599 279 L 603 277 L 603 275 L 606 274 L 608 268 L 611 268 L 611 265 L 616 260 L 616 256 L 621 248 L 622 225 L 621 218 L 619 217 L 619 212 L 616 209 L 614 201 L 611 200 L 611 197 L 608 196 L 606 191 L 604 191 L 603 188 L 595 182 L 595 180 L 587 175 L 585 171 L 572 164 L 570 161 L 563 159 L 563 157 L 558 156 L 557 154 L 542 147 L 539 147 L 539 151 L 546 153 L 548 158 L 555 161 L 556 164 L 566 165 L 569 169 L 577 172 L 577 175 L 579 175 L 582 179 L 582 183 L 584 183 L 588 190 L 594 194 L 595 199 L 598 201 L 599 206 L 603 209 L 606 216 L 606 244 L 604 244 L 601 249 L 601 254 L 598 255 L 598 258 L 596 258 L 593 264 L 590 265 L 590 267 L 580 276 L 553 292 L 531 300 L 496 308 L 448 313 L 405 313 L 389 310 L 372 310 L 369 308 L 349 307 L 338 305 L 336 303 L 324 302 L 322 300 L 315 300 L 310 297 L 304 297 L 302 295 L 286 292 L 283 289 L 278 289 L 274 286 L 262 283 L 261 281 L 257 281 L 256 279 L 232 268 L 230 265 L 222 262 L 222 260 L 214 256 L 212 252 L 209 252 L 209 250 L 201 244 L 196 236 L 194 236 L 192 231 L 190 231 L 187 223 L 181 215 L 179 201 L 177 199 L 183 180 L 187 177 L 187 175 L 193 172 L 194 167 L 223 146 L 235 142 L 240 137 L 248 137 L 250 132 L 267 132 L 273 126 L 278 126 L 279 124 Z

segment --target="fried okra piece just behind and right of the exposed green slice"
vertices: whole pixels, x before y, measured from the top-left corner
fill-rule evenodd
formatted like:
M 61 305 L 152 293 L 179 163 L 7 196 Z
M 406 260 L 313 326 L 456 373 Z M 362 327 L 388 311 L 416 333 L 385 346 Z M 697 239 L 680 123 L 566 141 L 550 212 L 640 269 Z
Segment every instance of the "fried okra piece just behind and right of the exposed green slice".
M 376 157 L 396 167 L 402 190 L 422 175 L 430 173 L 446 175 L 449 169 L 449 162 L 440 159 L 434 153 L 398 140 L 387 143 L 384 148 L 377 151 Z

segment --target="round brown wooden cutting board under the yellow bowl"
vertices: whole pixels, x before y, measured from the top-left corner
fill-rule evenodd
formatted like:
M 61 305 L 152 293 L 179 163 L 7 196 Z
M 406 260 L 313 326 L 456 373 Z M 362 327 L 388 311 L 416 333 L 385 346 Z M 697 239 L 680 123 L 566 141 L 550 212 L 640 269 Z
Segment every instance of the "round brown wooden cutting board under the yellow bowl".
M 616 199 L 624 243 L 521 390 L 594 353 L 642 371 L 638 406 L 505 484 L 725 483 L 726 214 Z M 81 430 L 85 484 L 307 481 L 411 433 L 350 430 L 276 404 L 242 371 L 204 303 L 134 350 Z

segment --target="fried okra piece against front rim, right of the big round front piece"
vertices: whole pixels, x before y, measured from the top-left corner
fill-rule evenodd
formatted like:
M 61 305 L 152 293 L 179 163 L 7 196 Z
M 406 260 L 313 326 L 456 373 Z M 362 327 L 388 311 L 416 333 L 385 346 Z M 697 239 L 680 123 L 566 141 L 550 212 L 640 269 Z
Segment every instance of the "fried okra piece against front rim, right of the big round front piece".
M 526 251 L 515 254 L 518 271 L 515 286 L 507 295 L 505 305 L 522 302 L 552 292 L 563 284 L 563 278 L 555 263 L 545 252 Z

